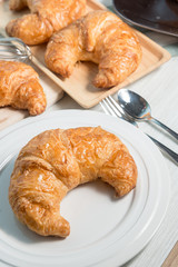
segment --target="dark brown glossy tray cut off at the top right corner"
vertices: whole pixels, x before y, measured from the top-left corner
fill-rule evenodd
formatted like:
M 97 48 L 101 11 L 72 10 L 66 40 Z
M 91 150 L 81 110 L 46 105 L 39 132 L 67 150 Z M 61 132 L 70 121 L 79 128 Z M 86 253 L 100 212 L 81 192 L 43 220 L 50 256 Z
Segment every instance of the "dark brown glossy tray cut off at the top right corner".
M 176 0 L 113 0 L 113 6 L 128 23 L 178 37 Z

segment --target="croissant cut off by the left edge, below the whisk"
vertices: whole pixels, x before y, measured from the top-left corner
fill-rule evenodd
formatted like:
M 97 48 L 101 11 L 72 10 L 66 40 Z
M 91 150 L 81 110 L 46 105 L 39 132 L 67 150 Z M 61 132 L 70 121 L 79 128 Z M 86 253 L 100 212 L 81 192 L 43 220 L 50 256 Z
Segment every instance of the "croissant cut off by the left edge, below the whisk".
M 28 109 L 39 115 L 47 106 L 38 73 L 28 65 L 0 60 L 0 107 Z

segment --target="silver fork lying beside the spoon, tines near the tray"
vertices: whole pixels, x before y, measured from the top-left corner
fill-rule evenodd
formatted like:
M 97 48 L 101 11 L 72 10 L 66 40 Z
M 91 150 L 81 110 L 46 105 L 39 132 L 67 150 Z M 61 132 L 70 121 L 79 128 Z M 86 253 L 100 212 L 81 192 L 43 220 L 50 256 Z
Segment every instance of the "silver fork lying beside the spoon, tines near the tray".
M 100 106 L 102 107 L 103 111 L 107 115 L 112 115 L 113 117 L 119 117 L 134 126 L 138 128 L 138 125 L 136 121 L 130 120 L 125 112 L 122 111 L 121 107 L 119 103 L 112 98 L 112 97 L 107 97 L 100 101 Z M 146 134 L 147 135 L 147 134 Z M 159 148 L 162 152 L 169 156 L 176 164 L 178 164 L 178 154 L 174 152 L 171 149 L 167 148 L 164 144 L 159 142 L 156 140 L 154 137 L 147 135 Z

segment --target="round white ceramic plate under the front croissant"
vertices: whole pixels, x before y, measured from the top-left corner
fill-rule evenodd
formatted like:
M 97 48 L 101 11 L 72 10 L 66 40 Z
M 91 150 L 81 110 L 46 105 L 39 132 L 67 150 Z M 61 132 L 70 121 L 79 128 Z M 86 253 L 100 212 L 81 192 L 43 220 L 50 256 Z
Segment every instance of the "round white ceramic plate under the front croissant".
M 14 159 L 37 134 L 80 126 L 101 126 L 127 145 L 138 167 L 137 187 L 115 199 L 113 189 L 101 181 L 80 186 L 61 204 L 70 236 L 38 236 L 16 219 L 8 202 Z M 18 267 L 118 267 L 138 254 L 158 229 L 168 206 L 169 175 L 157 147 L 134 126 L 100 112 L 65 110 L 22 120 L 2 135 L 0 162 L 16 152 L 0 174 L 0 258 L 4 263 Z

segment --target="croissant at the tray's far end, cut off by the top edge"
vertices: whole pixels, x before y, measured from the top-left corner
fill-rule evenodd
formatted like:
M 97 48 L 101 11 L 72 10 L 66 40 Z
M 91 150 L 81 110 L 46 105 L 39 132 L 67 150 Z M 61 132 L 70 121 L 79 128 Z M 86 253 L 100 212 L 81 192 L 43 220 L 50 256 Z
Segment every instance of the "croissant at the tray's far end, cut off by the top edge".
M 86 0 L 10 0 L 9 7 L 11 10 L 28 7 L 31 13 L 11 20 L 6 28 L 7 33 L 27 44 L 39 44 L 85 14 Z

